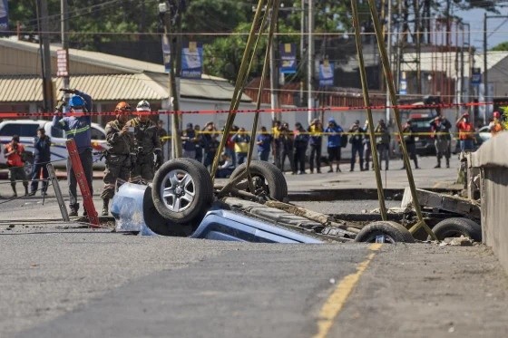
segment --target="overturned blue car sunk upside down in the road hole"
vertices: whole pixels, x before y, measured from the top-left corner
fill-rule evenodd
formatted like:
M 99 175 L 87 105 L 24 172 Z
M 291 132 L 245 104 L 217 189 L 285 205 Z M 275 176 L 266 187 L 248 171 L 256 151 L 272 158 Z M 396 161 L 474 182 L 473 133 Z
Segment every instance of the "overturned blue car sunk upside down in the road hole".
M 252 160 L 249 172 L 246 168 L 235 169 L 229 185 L 214 187 L 200 162 L 172 159 L 155 173 L 151 185 L 122 185 L 112 201 L 116 227 L 145 235 L 264 243 L 415 242 L 396 222 L 410 219 L 410 211 L 390 220 L 320 214 L 288 203 L 286 179 L 276 166 Z

